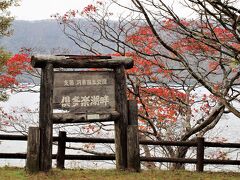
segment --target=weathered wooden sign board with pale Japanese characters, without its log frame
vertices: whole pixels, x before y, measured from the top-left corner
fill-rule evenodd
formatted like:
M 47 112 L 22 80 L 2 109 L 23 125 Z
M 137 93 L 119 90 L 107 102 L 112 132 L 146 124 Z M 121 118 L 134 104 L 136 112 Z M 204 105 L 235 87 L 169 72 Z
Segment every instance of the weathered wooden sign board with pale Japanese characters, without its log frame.
M 114 72 L 54 72 L 53 109 L 75 114 L 115 111 Z

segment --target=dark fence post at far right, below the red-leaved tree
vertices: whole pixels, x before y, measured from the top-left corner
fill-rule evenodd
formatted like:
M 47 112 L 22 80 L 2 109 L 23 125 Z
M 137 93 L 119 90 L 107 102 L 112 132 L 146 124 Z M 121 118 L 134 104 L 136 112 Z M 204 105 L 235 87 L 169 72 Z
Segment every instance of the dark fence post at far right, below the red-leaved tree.
M 197 137 L 197 165 L 196 171 L 203 172 L 204 168 L 204 138 Z

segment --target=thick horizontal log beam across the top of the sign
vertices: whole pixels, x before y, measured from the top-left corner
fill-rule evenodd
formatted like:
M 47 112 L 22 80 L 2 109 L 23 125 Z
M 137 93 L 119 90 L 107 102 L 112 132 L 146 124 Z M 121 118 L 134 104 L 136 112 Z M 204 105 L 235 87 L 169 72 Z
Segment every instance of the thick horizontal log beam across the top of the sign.
M 112 57 L 111 59 L 77 58 L 72 56 L 34 55 L 31 64 L 35 68 L 43 68 L 51 63 L 53 68 L 111 68 L 123 65 L 125 69 L 133 67 L 133 60 L 129 57 Z

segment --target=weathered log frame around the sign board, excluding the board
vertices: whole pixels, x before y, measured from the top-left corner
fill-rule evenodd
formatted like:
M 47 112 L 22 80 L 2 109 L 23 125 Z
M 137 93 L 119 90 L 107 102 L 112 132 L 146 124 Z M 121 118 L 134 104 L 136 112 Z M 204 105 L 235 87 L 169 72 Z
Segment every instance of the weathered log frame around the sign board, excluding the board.
M 54 68 L 108 68 L 114 72 L 116 111 L 105 114 L 108 117 L 97 121 L 114 121 L 115 126 L 115 148 L 116 168 L 124 170 L 127 168 L 127 127 L 128 127 L 128 105 L 125 69 L 133 67 L 133 60 L 127 57 L 105 57 L 105 56 L 81 56 L 81 55 L 36 55 L 31 57 L 34 68 L 41 68 L 40 87 L 40 171 L 49 171 L 52 167 L 52 131 L 54 118 L 67 122 L 66 120 L 84 120 L 84 117 L 54 117 L 53 114 L 53 81 Z M 93 116 L 88 116 L 94 120 Z M 95 116 L 96 117 L 96 116 Z M 101 118 L 101 114 L 99 115 Z M 86 121 L 84 121 L 86 122 Z

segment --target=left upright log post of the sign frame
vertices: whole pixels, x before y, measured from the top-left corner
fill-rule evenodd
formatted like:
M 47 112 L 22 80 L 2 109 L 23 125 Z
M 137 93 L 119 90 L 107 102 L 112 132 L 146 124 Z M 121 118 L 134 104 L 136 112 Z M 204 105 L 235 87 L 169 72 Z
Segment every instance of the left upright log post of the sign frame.
M 40 171 L 49 171 L 52 167 L 52 97 L 53 66 L 47 63 L 41 72 L 40 87 Z

